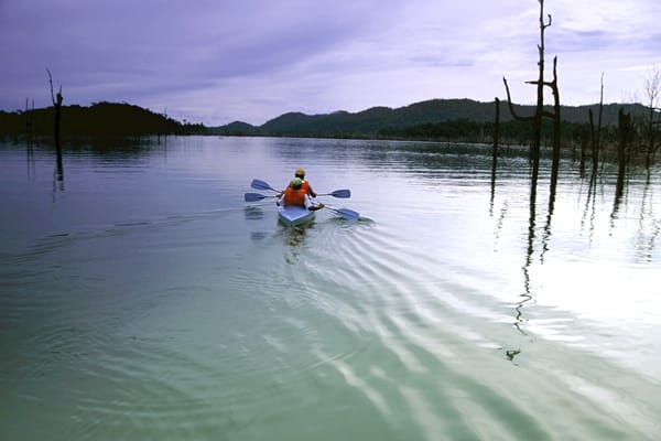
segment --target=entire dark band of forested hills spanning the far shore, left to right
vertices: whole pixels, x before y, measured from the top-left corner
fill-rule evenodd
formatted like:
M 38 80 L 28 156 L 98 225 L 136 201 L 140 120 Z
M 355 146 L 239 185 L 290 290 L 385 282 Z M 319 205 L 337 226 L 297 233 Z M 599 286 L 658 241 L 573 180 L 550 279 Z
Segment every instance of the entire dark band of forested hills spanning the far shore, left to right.
M 520 116 L 531 116 L 533 106 L 513 105 Z M 639 104 L 604 106 L 603 126 L 615 127 L 618 111 L 625 108 L 632 115 L 647 115 Z M 552 108 L 546 106 L 546 110 Z M 589 110 L 595 119 L 598 105 L 562 106 L 562 133 L 565 139 L 581 138 L 588 122 Z M 348 112 L 305 115 L 288 112 L 261 126 L 234 121 L 221 127 L 207 128 L 203 125 L 181 123 L 165 115 L 152 112 L 126 103 L 96 103 L 89 107 L 77 105 L 62 108 L 61 133 L 63 137 L 124 137 L 149 135 L 226 135 L 226 136 L 275 136 L 317 138 L 375 138 L 375 139 L 429 139 L 486 142 L 492 132 L 495 103 L 472 99 L 431 99 L 395 109 L 371 107 Z M 52 136 L 53 107 L 26 111 L 0 111 L 0 136 L 21 137 Z M 523 142 L 530 139 L 531 125 L 514 121 L 507 103 L 500 106 L 501 136 Z M 551 122 L 544 120 L 542 136 L 550 137 Z

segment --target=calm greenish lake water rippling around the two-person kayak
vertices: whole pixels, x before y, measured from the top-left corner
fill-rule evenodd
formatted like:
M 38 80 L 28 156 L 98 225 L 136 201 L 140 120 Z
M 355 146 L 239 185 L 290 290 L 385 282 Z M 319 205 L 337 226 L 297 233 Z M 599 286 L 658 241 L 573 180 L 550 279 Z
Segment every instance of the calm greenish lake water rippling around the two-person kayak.
M 0 146 L 0 439 L 660 439 L 659 170 L 161 141 Z M 243 202 L 299 166 L 360 219 Z

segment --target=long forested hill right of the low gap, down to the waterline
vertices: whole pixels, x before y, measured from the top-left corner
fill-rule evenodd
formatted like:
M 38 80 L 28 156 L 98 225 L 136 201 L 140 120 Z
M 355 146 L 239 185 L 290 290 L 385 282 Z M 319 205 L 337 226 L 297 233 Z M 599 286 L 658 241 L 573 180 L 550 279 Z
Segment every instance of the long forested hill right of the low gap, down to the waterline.
M 533 106 L 514 105 L 517 115 L 530 116 Z M 616 126 L 620 108 L 632 115 L 644 115 L 641 105 L 610 104 L 603 108 L 603 125 Z M 551 107 L 546 107 L 552 111 Z M 563 106 L 562 120 L 565 135 L 575 136 L 588 122 L 589 109 L 598 115 L 598 105 Z M 372 107 L 356 114 L 336 111 L 326 115 L 289 112 L 271 119 L 262 126 L 235 121 L 209 129 L 218 135 L 243 136 L 300 136 L 335 138 L 422 138 L 478 140 L 492 130 L 496 105 L 472 99 L 432 99 L 391 109 Z M 500 104 L 500 122 L 506 137 L 525 138 L 529 126 L 514 121 L 507 103 Z M 548 127 L 550 130 L 550 126 Z

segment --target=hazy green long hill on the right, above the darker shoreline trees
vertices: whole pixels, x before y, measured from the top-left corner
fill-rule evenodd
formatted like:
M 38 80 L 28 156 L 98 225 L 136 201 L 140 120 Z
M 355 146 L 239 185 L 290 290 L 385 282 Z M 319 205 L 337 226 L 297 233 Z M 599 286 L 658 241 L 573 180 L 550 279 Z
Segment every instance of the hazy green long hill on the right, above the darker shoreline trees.
M 534 106 L 513 105 L 518 115 L 530 116 Z M 609 104 L 604 106 L 603 125 L 617 125 L 620 108 L 629 112 L 644 112 L 641 105 Z M 262 126 L 251 126 L 235 121 L 227 126 L 210 128 L 218 135 L 245 136 L 304 136 L 304 137 L 381 137 L 386 133 L 398 133 L 424 125 L 437 125 L 448 121 L 469 121 L 481 125 L 492 125 L 495 119 L 495 103 L 480 103 L 472 99 L 431 99 L 400 108 L 372 107 L 356 114 L 336 111 L 324 115 L 305 115 L 288 112 L 273 118 Z M 551 111 L 552 107 L 546 106 Z M 588 122 L 588 110 L 595 118 L 598 105 L 562 106 L 561 116 L 564 122 Z M 512 117 L 507 103 L 500 105 L 500 121 L 511 122 Z

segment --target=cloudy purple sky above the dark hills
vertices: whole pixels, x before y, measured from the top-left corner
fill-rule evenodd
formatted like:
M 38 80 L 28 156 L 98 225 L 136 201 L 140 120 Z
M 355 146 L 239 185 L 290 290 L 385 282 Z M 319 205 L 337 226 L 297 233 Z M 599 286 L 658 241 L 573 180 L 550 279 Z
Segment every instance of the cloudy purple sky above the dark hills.
M 644 101 L 659 0 L 546 0 L 561 100 Z M 534 101 L 538 0 L 0 0 L 0 109 L 126 101 L 178 120 L 261 125 L 286 111 L 432 98 Z M 546 98 L 551 101 L 551 98 Z

